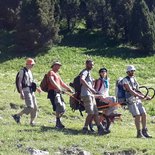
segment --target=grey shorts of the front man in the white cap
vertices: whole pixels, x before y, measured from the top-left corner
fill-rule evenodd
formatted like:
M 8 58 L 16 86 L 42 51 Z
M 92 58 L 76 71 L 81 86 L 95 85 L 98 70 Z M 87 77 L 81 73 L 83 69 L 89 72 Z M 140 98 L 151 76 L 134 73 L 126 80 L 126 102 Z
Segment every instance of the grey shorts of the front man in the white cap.
M 131 112 L 132 116 L 135 117 L 137 115 L 146 114 L 146 110 L 143 107 L 140 100 L 138 100 L 136 103 L 128 104 L 129 111 Z

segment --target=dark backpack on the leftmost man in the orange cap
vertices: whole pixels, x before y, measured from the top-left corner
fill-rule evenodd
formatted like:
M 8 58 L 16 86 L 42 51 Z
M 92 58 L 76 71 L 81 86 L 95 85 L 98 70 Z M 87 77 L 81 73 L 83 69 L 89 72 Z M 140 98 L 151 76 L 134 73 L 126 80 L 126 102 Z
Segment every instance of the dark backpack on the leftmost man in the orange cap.
M 22 88 L 23 88 L 23 87 L 26 87 L 24 78 L 25 78 L 25 73 L 27 72 L 27 69 L 24 67 L 21 70 L 23 70 L 23 78 L 22 78 Z M 15 85 L 16 85 L 16 89 L 17 89 L 17 92 L 18 93 L 20 93 L 19 86 L 18 86 L 18 83 L 19 83 L 19 73 L 20 73 L 20 71 L 16 74 L 16 78 L 15 78 Z

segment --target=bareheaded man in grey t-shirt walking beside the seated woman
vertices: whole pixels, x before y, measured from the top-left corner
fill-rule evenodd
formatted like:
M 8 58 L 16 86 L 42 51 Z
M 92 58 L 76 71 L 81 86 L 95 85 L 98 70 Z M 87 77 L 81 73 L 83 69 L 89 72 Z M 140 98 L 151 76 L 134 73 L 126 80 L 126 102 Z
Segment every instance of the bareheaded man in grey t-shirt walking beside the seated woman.
M 91 70 L 94 67 L 94 62 L 92 60 L 86 60 L 86 68 L 82 71 L 80 81 L 81 81 L 81 100 L 84 103 L 85 110 L 87 112 L 87 117 L 85 119 L 85 124 L 82 129 L 84 134 L 89 133 L 88 125 L 91 124 L 92 119 L 94 119 L 97 127 L 98 134 L 104 134 L 104 128 L 99 122 L 98 109 L 96 106 L 96 101 L 94 94 L 96 90 L 93 88 L 93 78 L 91 77 Z

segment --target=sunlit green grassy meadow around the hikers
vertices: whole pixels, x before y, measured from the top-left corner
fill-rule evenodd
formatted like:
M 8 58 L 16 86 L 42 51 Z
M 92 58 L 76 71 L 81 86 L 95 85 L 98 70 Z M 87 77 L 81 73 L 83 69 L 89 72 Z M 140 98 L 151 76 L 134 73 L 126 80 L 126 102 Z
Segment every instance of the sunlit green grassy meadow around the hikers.
M 68 45 L 62 42 L 61 45 L 55 46 L 45 53 L 33 55 L 36 60 L 36 65 L 33 68 L 36 81 L 39 83 L 43 75 L 50 69 L 51 61 L 58 59 L 63 64 L 60 75 L 66 83 L 69 83 L 84 68 L 85 60 L 92 58 L 95 62 L 92 71 L 94 78 L 98 78 L 98 70 L 101 67 L 105 66 L 108 69 L 111 79 L 111 95 L 114 95 L 116 79 L 120 76 L 126 76 L 125 68 L 128 64 L 133 64 L 137 68 L 136 76 L 141 85 L 155 88 L 155 56 L 139 54 L 138 50 L 128 46 L 120 47 L 116 44 L 107 48 L 97 48 L 99 46 L 96 47 L 96 42 L 93 46 L 93 38 L 90 41 L 91 47 L 86 46 L 89 42 L 81 45 L 77 40 L 75 46 L 74 44 L 69 45 L 68 41 Z M 22 56 L 12 54 L 9 58 L 9 53 L 5 55 L 2 51 L 2 57 L 0 57 L 0 155 L 27 154 L 26 148 L 28 147 L 47 150 L 53 155 L 58 150 L 75 146 L 94 155 L 120 151 L 130 151 L 135 154 L 155 154 L 154 138 L 144 140 L 135 138 L 136 130 L 133 118 L 127 110 L 119 109 L 123 114 L 122 121 L 116 121 L 112 124 L 112 132 L 109 135 L 100 137 L 96 134 L 83 135 L 81 128 L 86 114 L 84 113 L 84 117 L 81 117 L 78 111 L 72 112 L 68 104 L 69 97 L 66 95 L 64 95 L 64 99 L 67 104 L 67 112 L 63 117 L 66 129 L 62 131 L 54 129 L 55 116 L 46 93 L 36 94 L 39 106 L 37 126 L 30 127 L 28 125 L 29 116 L 23 116 L 22 124 L 17 125 L 11 118 L 11 114 L 20 111 L 20 106 L 24 103 L 20 100 L 19 94 L 14 92 L 14 81 L 17 71 L 25 63 L 26 56 L 26 54 Z M 10 103 L 18 105 L 18 109 L 11 109 Z M 154 124 L 152 123 L 154 120 L 152 120 L 151 115 L 155 115 L 154 103 L 154 100 L 144 102 L 149 113 L 148 128 L 153 137 L 155 137 Z

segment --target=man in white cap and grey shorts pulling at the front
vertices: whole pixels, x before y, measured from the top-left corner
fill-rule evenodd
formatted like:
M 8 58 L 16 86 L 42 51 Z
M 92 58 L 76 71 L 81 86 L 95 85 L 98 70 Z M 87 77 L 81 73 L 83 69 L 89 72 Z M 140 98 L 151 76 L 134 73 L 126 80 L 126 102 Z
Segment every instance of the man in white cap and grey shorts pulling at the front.
M 135 126 L 137 129 L 137 138 L 152 138 L 149 135 L 147 127 L 146 127 L 146 110 L 142 105 L 141 99 L 149 100 L 150 97 L 145 97 L 142 93 L 139 93 L 137 90 L 139 88 L 139 84 L 135 79 L 135 71 L 136 68 L 133 65 L 129 65 L 126 69 L 127 78 L 123 79 L 123 87 L 125 89 L 126 103 L 128 105 L 129 111 L 135 119 Z M 142 125 L 142 130 L 141 130 Z

